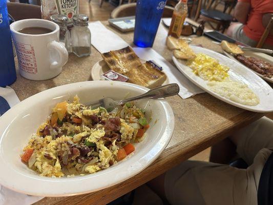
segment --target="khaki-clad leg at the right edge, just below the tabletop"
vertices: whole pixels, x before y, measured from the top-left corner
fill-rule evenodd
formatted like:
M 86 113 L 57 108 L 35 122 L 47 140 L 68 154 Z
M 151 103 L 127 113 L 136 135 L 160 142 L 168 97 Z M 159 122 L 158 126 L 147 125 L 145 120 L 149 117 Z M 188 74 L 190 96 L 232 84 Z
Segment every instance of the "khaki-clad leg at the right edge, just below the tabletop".
M 273 148 L 273 120 L 262 117 L 229 137 L 248 165 L 263 148 Z

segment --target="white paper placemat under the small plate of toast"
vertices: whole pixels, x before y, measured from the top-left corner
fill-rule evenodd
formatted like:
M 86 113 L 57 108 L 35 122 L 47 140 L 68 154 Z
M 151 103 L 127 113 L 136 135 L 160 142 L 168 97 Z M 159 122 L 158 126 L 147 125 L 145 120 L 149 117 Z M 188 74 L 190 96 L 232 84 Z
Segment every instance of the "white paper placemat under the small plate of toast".
M 105 53 L 111 50 L 118 50 L 129 46 L 121 37 L 107 29 L 101 22 L 89 23 L 88 28 L 91 31 L 91 43 L 100 52 Z M 133 47 L 136 54 L 144 60 L 154 60 L 169 78 L 170 83 L 177 83 L 180 88 L 179 95 L 185 99 L 204 91 L 191 83 L 182 73 L 173 65 L 165 60 L 152 48 Z

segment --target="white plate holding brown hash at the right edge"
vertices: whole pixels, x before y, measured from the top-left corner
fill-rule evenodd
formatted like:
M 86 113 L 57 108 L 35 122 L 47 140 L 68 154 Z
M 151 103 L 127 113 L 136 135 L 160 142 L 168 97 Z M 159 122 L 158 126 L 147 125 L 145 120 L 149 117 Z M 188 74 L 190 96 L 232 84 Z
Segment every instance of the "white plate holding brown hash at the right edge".
M 239 60 L 237 60 L 233 55 L 230 55 L 229 53 L 227 53 L 226 51 L 224 51 L 224 54 L 229 57 L 230 59 L 233 59 L 233 60 L 236 60 L 239 64 L 243 65 Z M 261 60 L 264 60 L 266 61 L 267 63 L 273 65 L 273 57 L 271 57 L 270 55 L 266 55 L 264 53 L 259 53 L 259 52 L 253 52 L 253 51 L 244 51 L 243 53 L 244 56 L 247 56 L 247 57 L 257 57 L 257 58 L 260 58 Z M 248 68 L 247 66 L 243 65 L 244 67 Z M 248 68 L 250 69 L 251 71 L 255 72 L 257 75 L 259 75 L 261 78 L 263 78 L 264 80 L 270 82 L 270 83 L 273 83 L 273 77 L 272 78 L 269 78 L 269 77 L 265 77 L 263 76 L 262 74 L 260 73 L 257 73 L 256 71 L 252 70 L 251 68 Z

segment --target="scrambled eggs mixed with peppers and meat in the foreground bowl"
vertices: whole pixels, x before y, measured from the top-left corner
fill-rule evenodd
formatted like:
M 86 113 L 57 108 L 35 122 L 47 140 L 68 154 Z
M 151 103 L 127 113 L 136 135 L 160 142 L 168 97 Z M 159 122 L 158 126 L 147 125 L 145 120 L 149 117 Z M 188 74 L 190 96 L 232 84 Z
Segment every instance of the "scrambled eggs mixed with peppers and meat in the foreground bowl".
M 138 129 L 130 126 L 129 118 L 133 112 L 140 113 L 139 118 L 144 114 L 135 106 L 129 107 L 123 106 L 125 120 L 104 108 L 89 109 L 79 103 L 77 96 L 73 103 L 59 103 L 30 138 L 22 160 L 30 169 L 48 177 L 72 177 L 107 169 L 121 160 L 120 149 L 137 141 L 133 134 Z

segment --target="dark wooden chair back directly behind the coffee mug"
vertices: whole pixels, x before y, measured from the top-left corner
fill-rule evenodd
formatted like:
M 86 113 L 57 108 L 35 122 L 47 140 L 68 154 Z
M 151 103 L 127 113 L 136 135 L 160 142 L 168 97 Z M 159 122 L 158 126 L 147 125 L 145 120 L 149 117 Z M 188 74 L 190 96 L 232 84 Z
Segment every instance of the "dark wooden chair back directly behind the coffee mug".
M 31 4 L 7 3 L 8 12 L 14 20 L 41 18 L 41 7 Z

